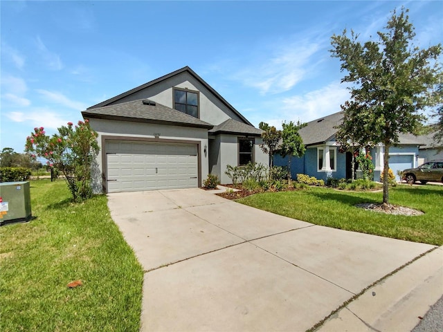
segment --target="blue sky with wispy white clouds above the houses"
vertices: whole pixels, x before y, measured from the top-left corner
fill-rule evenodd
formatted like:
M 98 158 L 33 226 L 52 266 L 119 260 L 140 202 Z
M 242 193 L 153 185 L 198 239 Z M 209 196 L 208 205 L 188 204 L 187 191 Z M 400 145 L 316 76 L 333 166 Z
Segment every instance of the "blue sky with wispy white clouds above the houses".
M 190 66 L 255 126 L 340 111 L 330 37 L 377 36 L 410 10 L 421 48 L 443 42 L 443 1 L 0 1 L 0 149 L 24 150 L 81 111 Z

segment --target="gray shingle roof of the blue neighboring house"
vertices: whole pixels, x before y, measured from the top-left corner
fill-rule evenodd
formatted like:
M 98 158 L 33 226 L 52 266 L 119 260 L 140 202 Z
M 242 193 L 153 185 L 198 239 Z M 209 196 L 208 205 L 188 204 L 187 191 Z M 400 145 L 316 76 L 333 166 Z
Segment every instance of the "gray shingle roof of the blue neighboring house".
M 343 122 L 343 112 L 337 112 L 324 118 L 319 118 L 307 122 L 307 126 L 300 129 L 298 132 L 303 139 L 305 145 L 315 145 L 327 142 L 334 138 L 338 127 Z M 402 145 L 424 145 L 426 140 L 423 136 L 414 136 L 410 133 L 399 134 L 399 144 Z

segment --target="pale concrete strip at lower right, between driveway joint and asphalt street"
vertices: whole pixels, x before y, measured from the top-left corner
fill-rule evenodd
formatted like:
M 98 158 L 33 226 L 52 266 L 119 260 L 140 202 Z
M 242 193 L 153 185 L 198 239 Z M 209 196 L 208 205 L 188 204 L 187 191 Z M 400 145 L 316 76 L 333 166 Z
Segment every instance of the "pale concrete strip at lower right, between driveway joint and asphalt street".
M 364 288 L 307 331 L 411 331 L 443 295 L 442 260 L 443 246 L 424 252 Z

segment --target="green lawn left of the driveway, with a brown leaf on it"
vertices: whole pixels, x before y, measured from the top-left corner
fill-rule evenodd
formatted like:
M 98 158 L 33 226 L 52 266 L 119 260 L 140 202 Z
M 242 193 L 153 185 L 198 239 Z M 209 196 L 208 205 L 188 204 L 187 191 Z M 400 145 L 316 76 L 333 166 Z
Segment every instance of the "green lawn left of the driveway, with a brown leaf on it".
M 64 181 L 30 185 L 35 219 L 0 228 L 0 331 L 138 331 L 143 270 L 106 196 L 71 203 Z

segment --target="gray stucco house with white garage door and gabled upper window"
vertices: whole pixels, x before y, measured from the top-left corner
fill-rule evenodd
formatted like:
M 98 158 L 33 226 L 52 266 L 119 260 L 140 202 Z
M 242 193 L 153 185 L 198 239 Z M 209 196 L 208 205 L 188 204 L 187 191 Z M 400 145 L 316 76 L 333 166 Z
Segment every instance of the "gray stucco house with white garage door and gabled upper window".
M 82 116 L 98 132 L 95 192 L 230 183 L 226 165 L 268 165 L 257 129 L 188 66 L 100 102 Z

